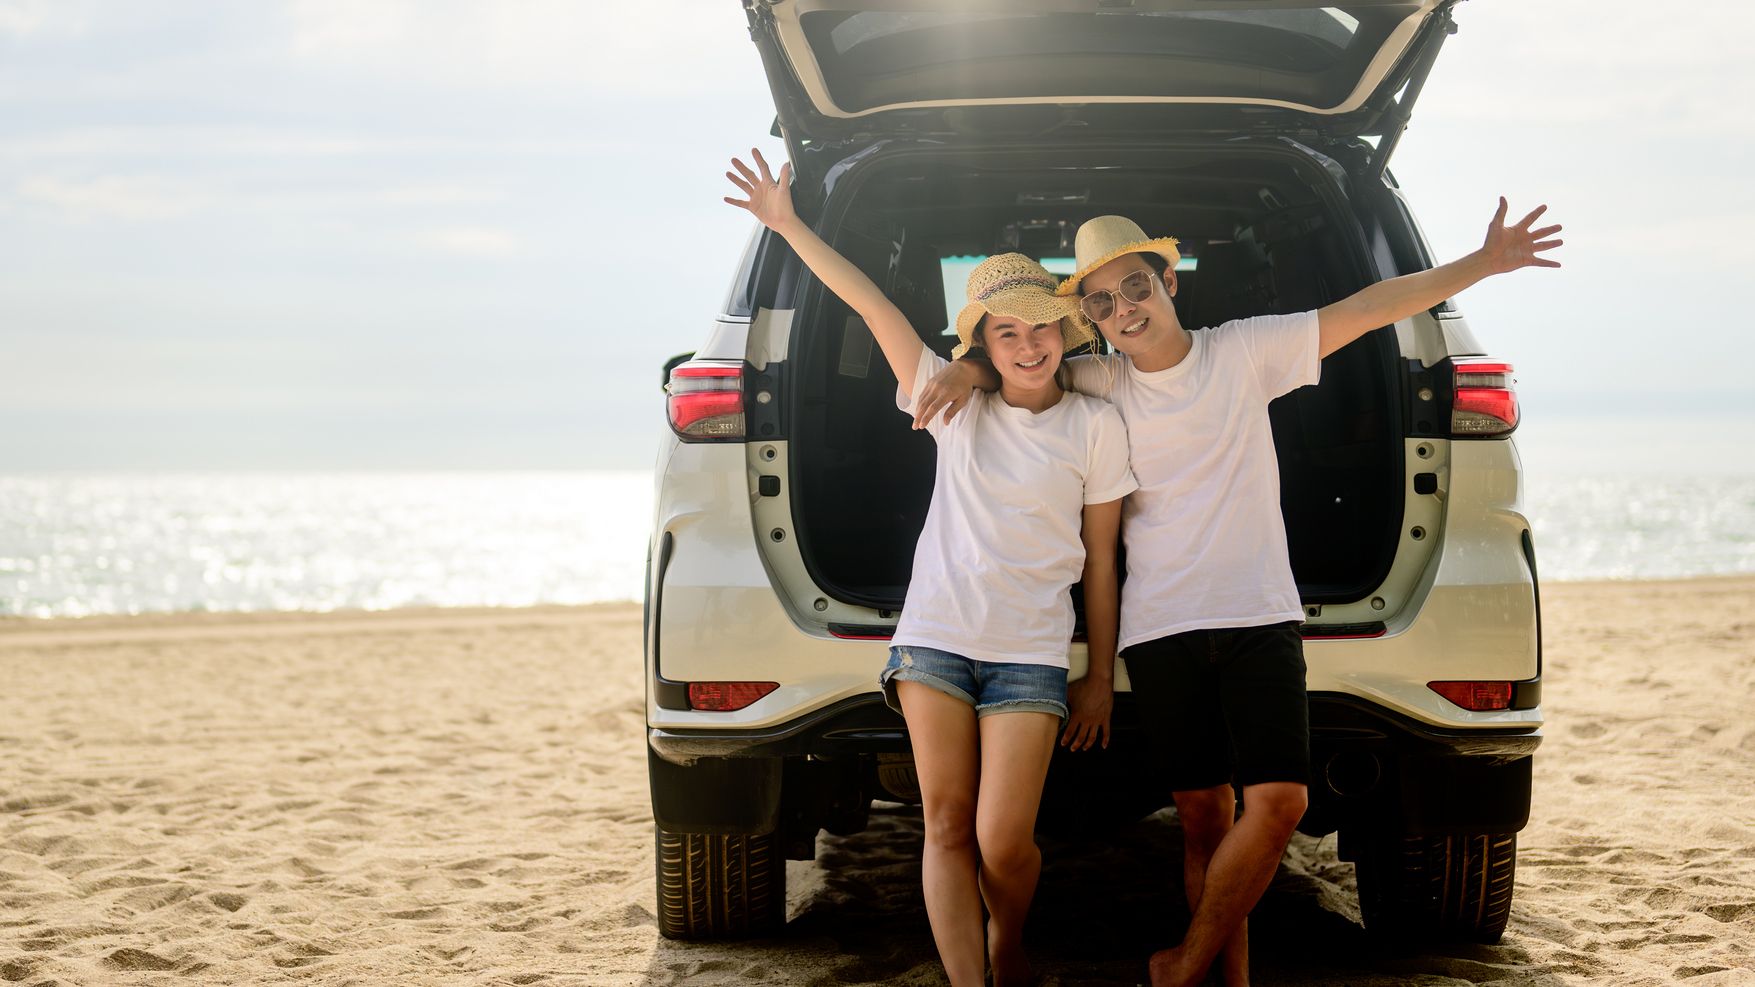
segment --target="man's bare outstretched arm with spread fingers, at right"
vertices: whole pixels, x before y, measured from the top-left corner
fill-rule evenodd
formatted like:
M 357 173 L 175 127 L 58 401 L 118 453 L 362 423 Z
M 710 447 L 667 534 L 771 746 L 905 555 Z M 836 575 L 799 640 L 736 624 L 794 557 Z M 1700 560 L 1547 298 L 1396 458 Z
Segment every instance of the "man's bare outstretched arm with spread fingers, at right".
M 1560 267 L 1557 260 L 1536 256 L 1565 242 L 1546 239 L 1560 232 L 1558 225 L 1530 230 L 1530 223 L 1548 207 L 1537 205 L 1516 227 L 1502 225 L 1506 209 L 1506 198 L 1501 197 L 1499 213 L 1494 213 L 1494 221 L 1486 227 L 1486 242 L 1481 244 L 1481 249 L 1430 270 L 1378 281 L 1318 309 L 1322 355 L 1334 353 L 1372 328 L 1423 313 L 1494 274 L 1506 274 L 1520 267 Z

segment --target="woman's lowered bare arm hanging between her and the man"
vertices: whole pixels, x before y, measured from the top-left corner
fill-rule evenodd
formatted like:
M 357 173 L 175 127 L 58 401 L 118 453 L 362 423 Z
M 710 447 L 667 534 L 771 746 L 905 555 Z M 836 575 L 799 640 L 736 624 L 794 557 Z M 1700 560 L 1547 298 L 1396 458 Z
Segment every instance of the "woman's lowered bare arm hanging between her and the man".
M 1060 746 L 1090 750 L 1109 746 L 1109 713 L 1114 708 L 1114 643 L 1121 622 L 1121 578 L 1114 546 L 1121 537 L 1121 501 L 1086 504 L 1079 539 L 1085 541 L 1085 678 L 1067 685 L 1067 729 Z

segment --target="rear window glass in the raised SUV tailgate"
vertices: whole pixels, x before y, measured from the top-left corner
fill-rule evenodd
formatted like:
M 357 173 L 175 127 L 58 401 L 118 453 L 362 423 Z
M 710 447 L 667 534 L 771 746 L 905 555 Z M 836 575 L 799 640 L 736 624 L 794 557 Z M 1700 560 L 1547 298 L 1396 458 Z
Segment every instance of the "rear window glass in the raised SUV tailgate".
M 830 97 L 849 112 L 1032 97 L 1223 97 L 1334 107 L 1418 9 L 811 11 L 800 26 Z

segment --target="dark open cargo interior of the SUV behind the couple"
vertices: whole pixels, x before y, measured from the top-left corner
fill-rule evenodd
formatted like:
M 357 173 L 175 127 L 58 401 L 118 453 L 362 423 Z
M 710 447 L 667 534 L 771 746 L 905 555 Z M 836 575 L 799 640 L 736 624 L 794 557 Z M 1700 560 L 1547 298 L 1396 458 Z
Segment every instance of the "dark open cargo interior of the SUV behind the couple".
M 1081 156 L 1065 167 L 1042 155 L 1028 167 L 997 155 L 872 162 L 830 198 L 828 239 L 946 357 L 976 262 L 1020 251 L 1069 274 L 1078 225 L 1107 213 L 1181 241 L 1176 309 L 1188 328 L 1320 307 L 1374 277 L 1357 221 L 1337 213 L 1339 190 L 1307 158 L 1158 149 L 1092 167 L 1093 155 Z M 792 508 L 806 566 L 837 599 L 899 609 L 935 444 L 897 411 L 895 376 L 870 332 L 816 285 L 800 297 L 790 372 Z M 1271 418 L 1299 590 L 1306 602 L 1360 599 L 1399 543 L 1406 479 L 1393 334 L 1369 334 L 1323 360 L 1322 383 L 1276 400 Z

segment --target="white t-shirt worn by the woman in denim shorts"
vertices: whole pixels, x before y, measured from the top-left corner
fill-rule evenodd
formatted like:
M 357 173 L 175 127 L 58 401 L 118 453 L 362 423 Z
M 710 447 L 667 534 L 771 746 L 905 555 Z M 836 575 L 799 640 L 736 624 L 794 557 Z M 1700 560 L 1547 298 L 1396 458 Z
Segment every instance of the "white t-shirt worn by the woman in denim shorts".
M 921 346 L 914 393 L 946 365 Z M 900 386 L 897 407 L 914 409 Z M 942 418 L 927 427 L 939 443 L 932 506 L 890 643 L 1067 667 L 1085 504 L 1139 486 L 1121 416 L 1072 392 L 1041 414 L 978 392 L 948 425 Z

